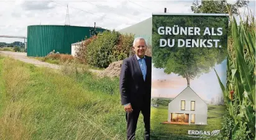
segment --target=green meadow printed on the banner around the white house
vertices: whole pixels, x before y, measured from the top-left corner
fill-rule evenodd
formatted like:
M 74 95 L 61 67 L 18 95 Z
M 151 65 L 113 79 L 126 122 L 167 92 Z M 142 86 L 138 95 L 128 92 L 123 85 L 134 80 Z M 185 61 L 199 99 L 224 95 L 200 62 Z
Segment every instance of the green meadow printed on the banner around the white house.
M 161 124 L 167 121 L 168 107 L 160 105 L 158 108 L 151 108 L 151 128 L 153 139 L 199 139 L 189 138 L 188 130 L 213 131 L 221 129 L 220 113 L 224 112 L 224 106 L 208 105 L 208 125 L 173 125 Z M 216 139 L 216 138 L 211 138 Z

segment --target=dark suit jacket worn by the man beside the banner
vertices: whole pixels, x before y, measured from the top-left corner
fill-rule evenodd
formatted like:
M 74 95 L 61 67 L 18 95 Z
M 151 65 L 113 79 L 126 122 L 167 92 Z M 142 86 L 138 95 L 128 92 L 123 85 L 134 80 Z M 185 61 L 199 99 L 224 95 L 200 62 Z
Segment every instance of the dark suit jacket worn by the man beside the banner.
M 119 82 L 122 105 L 131 103 L 132 107 L 135 107 L 143 103 L 143 98 L 147 98 L 147 104 L 149 103 L 150 105 L 152 58 L 145 56 L 145 61 L 147 65 L 147 75 L 144 81 L 136 55 L 123 60 Z

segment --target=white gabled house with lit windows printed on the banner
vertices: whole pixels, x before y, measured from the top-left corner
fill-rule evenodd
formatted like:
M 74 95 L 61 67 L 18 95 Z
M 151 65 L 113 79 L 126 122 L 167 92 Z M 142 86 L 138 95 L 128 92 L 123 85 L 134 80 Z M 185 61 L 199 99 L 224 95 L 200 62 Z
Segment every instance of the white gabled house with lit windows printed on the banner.
M 207 104 L 188 86 L 168 104 L 168 122 L 207 125 Z

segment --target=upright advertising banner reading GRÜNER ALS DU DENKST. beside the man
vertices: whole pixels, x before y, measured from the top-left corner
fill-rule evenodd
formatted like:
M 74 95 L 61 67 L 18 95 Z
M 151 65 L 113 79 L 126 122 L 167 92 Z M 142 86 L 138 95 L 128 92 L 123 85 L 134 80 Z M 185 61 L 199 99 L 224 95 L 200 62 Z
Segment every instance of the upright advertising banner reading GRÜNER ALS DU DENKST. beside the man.
M 226 14 L 152 15 L 152 139 L 216 139 L 225 112 Z

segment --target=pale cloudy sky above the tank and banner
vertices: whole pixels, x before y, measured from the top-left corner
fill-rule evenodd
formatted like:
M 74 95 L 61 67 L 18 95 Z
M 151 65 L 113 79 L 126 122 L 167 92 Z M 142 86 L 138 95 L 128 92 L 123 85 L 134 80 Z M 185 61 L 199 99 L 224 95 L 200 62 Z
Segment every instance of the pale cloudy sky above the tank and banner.
M 235 0 L 228 0 L 234 3 Z M 191 13 L 193 1 L 172 0 L 91 0 L 91 1 L 11 1 L 0 0 L 0 35 L 27 36 L 28 25 L 64 25 L 66 5 L 70 25 L 122 29 L 152 17 L 152 13 Z M 250 1 L 255 15 L 255 0 Z M 24 42 L 18 38 L 0 38 L 0 42 Z

